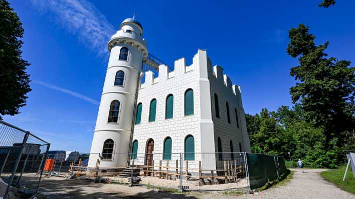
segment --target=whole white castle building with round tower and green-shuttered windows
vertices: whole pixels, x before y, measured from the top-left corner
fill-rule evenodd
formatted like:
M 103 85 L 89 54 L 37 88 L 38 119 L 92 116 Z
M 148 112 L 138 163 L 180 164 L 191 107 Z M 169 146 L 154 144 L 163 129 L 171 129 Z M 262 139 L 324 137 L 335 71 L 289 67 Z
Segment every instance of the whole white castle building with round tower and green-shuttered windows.
M 184 160 L 202 160 L 208 167 L 215 160 L 203 162 L 202 153 L 250 152 L 240 86 L 212 65 L 206 50 L 199 49 L 191 65 L 185 58 L 175 60 L 174 70 L 159 65 L 148 56 L 142 34 L 142 25 L 127 18 L 108 42 L 88 166 L 96 165 L 94 153 L 102 153 L 100 167 L 109 168 L 125 167 L 131 152 L 145 165 L 187 152 Z M 143 63 L 157 75 L 143 71 Z

